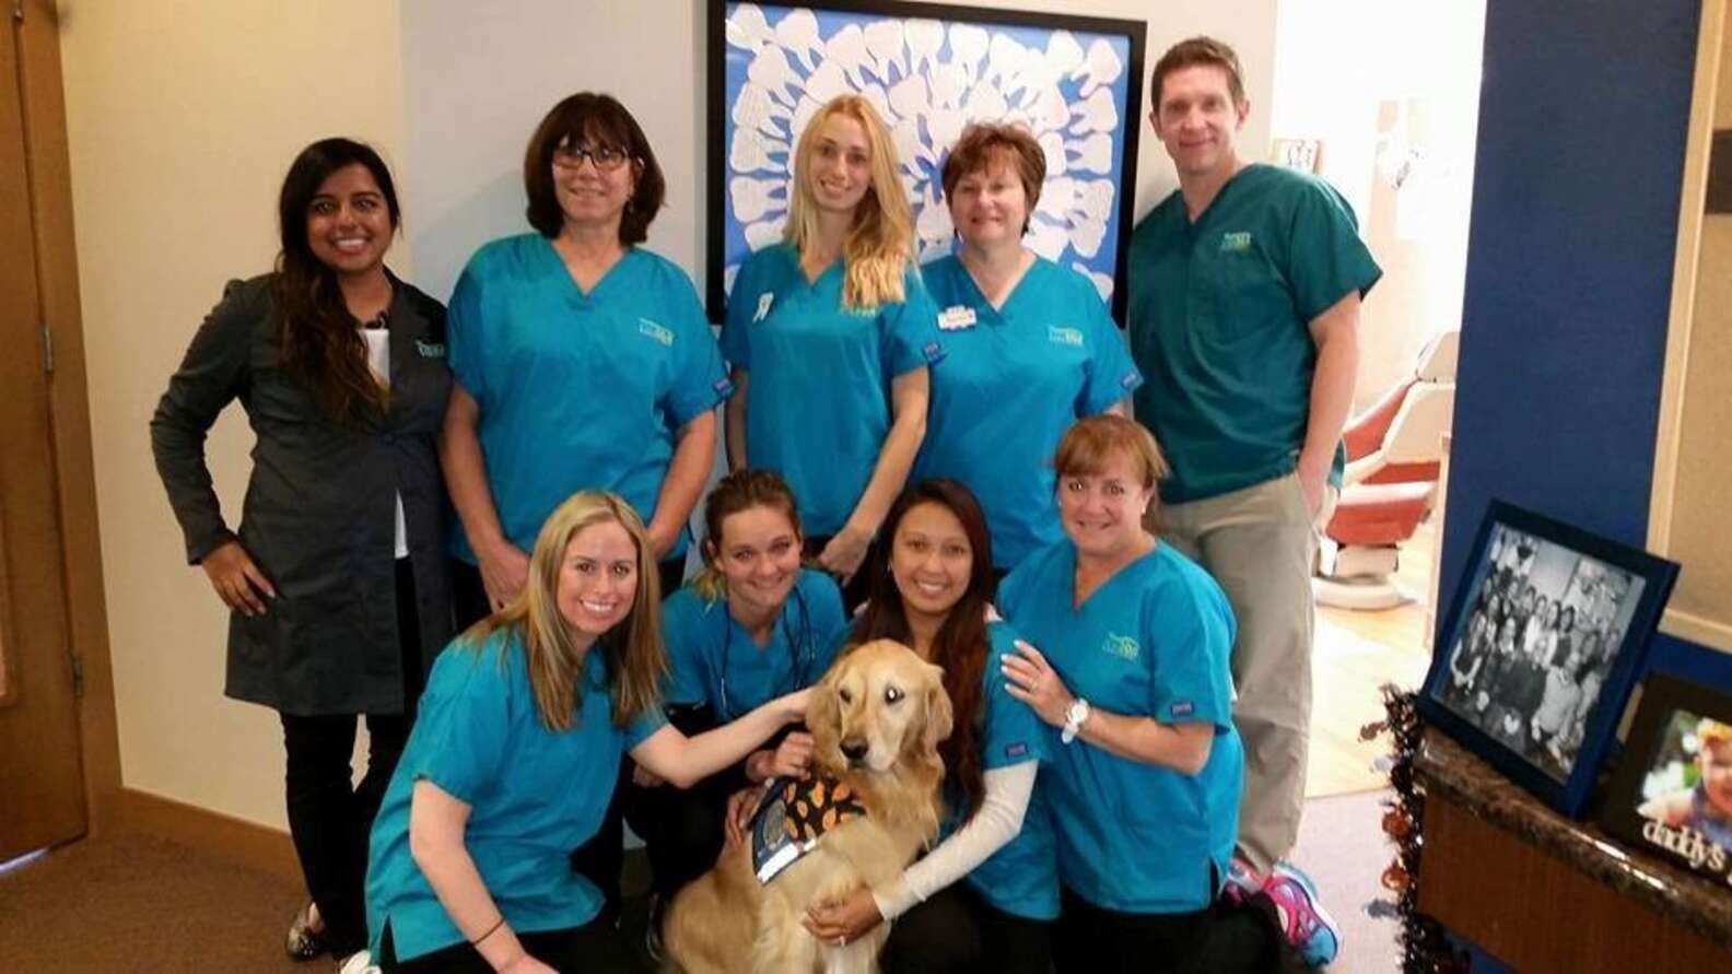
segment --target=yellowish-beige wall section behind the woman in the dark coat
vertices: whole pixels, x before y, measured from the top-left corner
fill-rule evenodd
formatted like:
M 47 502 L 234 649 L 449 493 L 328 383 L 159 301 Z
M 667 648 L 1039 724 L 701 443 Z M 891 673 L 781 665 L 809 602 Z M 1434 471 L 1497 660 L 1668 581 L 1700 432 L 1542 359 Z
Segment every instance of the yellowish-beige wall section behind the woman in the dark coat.
M 61 12 L 123 780 L 281 825 L 277 718 L 222 697 L 227 614 L 185 565 L 147 423 L 223 281 L 270 267 L 294 153 L 348 133 L 402 158 L 397 3 L 61 0 Z M 234 518 L 251 447 L 239 409 L 208 447 Z

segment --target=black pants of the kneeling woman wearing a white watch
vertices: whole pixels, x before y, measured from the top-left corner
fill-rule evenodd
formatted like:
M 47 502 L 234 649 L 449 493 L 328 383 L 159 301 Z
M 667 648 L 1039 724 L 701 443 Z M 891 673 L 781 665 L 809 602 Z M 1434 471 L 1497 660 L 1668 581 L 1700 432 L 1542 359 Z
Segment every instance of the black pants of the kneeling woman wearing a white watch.
M 1218 899 L 1192 913 L 1119 913 L 1062 891 L 1053 929 L 1058 974 L 1264 974 L 1282 971 L 1275 905 Z

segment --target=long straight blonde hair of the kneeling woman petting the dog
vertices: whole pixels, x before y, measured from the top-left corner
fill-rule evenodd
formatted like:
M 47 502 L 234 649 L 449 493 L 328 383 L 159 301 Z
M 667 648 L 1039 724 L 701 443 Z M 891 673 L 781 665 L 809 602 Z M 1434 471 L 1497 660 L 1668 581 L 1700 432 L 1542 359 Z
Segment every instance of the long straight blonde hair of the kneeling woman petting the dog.
M 637 591 L 632 593 L 632 610 L 625 620 L 603 633 L 591 650 L 599 648 L 606 664 L 615 726 L 625 726 L 634 716 L 660 705 L 662 678 L 667 674 L 662 612 L 656 608 L 662 603 L 662 582 L 650 556 L 643 520 L 615 494 L 578 490 L 559 504 L 535 537 L 523 591 L 462 634 L 462 641 L 480 652 L 490 634 L 502 629 L 518 633 L 528 657 L 535 711 L 551 731 L 572 730 L 584 705 L 578 695 L 584 676 L 582 653 L 559 614 L 559 568 L 572 539 L 606 522 L 618 523 L 632 537 L 632 546 L 637 549 Z

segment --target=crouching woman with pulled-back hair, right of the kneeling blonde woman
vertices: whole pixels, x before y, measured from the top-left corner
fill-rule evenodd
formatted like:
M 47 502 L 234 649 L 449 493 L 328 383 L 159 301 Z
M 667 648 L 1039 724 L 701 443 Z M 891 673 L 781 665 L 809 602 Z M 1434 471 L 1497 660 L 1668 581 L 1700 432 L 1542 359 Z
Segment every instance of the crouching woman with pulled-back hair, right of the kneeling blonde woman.
M 781 477 L 729 473 L 705 501 L 703 527 L 703 572 L 662 605 L 669 718 L 688 731 L 818 683 L 847 627 L 835 581 L 800 567 L 800 515 Z M 688 792 L 639 775 L 650 787 L 627 790 L 625 820 L 644 839 L 660 903 L 715 863 L 729 794 L 798 776 L 811 756 L 811 735 L 797 730 Z

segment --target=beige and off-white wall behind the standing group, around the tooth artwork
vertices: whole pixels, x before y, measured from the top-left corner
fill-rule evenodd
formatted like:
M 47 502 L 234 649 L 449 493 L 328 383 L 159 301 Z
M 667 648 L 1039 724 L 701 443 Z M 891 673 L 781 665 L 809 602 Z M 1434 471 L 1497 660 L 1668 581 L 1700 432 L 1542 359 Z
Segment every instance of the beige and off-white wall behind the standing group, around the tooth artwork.
M 1181 36 L 1214 33 L 1238 47 L 1256 102 L 1273 85 L 1275 0 L 991 5 L 1148 17 L 1150 64 Z M 553 94 L 618 90 L 656 140 L 670 201 L 681 201 L 682 211 L 656 222 L 651 246 L 701 279 L 701 7 L 61 0 L 61 10 L 123 780 L 281 827 L 277 719 L 222 697 L 227 615 L 204 575 L 184 565 L 151 463 L 156 399 L 223 281 L 268 269 L 282 172 L 322 135 L 365 139 L 393 163 L 410 236 L 428 234 L 416 237 L 428 244 L 423 277 L 438 293 L 464 248 L 521 225 L 516 159 Z M 428 80 L 410 69 L 421 88 L 405 101 L 410 43 L 454 54 Z M 1174 185 L 1143 132 L 1138 213 Z M 1259 113 L 1245 146 L 1266 144 Z M 442 237 L 466 239 L 442 255 Z M 409 270 L 407 244 L 391 263 Z M 249 447 L 232 409 L 208 444 L 230 516 Z

